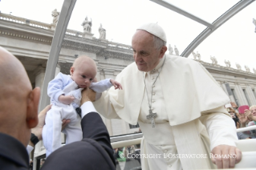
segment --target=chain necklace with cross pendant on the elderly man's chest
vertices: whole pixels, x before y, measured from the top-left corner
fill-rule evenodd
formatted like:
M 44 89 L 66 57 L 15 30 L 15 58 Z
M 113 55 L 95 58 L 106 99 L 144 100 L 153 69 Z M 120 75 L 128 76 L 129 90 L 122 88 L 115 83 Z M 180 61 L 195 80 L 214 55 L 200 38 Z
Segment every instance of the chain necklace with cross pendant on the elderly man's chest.
M 166 59 L 166 58 L 165 58 L 165 59 Z M 159 77 L 159 75 L 160 75 L 160 73 L 161 73 L 161 71 L 162 71 L 162 69 L 163 69 L 163 67 L 164 67 L 164 64 L 165 64 L 165 60 L 164 60 L 164 63 L 162 64 L 162 66 L 161 66 L 161 70 L 158 71 L 158 75 L 156 76 L 156 79 Z M 143 73 L 142 73 L 142 74 L 143 74 Z M 145 85 L 145 88 L 146 88 L 146 94 L 147 94 L 147 97 L 148 97 L 148 90 L 147 90 L 147 86 L 146 86 L 146 82 L 145 82 L 144 75 L 143 75 L 143 79 L 144 79 L 144 85 Z M 155 127 L 155 118 L 156 118 L 156 116 L 157 116 L 156 113 L 153 113 L 153 112 L 152 112 L 152 108 L 151 108 L 151 107 L 152 107 L 152 93 L 153 93 L 152 90 L 153 90 L 154 84 L 156 83 L 156 79 L 155 79 L 154 83 L 152 83 L 150 102 L 149 102 L 149 98 L 148 98 L 149 115 L 147 115 L 147 119 L 150 119 L 150 120 L 151 120 L 151 125 L 152 125 L 152 127 Z

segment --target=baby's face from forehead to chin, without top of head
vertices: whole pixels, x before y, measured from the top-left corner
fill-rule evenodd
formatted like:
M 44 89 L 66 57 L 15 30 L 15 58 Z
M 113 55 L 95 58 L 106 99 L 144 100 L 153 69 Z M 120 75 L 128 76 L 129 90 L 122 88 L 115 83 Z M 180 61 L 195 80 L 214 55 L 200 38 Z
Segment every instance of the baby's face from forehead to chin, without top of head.
M 71 79 L 77 83 L 79 88 L 90 87 L 91 81 L 95 78 L 96 71 L 91 67 L 78 66 L 71 67 Z

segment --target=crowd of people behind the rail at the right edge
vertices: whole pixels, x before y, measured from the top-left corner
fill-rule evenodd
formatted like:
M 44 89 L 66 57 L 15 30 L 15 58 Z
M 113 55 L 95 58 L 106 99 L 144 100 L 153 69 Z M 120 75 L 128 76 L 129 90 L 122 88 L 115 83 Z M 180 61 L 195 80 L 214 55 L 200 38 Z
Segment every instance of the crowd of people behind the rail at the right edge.
M 230 102 L 226 105 L 226 110 L 234 119 L 235 127 L 250 127 L 256 125 L 256 105 L 248 106 L 249 109 L 240 110 L 236 103 Z M 238 140 L 248 140 L 256 138 L 256 130 L 238 132 Z

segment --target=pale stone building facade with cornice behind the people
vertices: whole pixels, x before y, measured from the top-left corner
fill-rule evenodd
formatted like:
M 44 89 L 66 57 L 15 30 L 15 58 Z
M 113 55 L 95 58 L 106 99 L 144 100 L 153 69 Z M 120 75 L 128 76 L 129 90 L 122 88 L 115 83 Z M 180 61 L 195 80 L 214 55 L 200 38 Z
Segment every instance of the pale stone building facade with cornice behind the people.
M 14 54 L 26 68 L 33 87 L 42 87 L 47 59 L 54 35 L 52 24 L 0 14 L 0 46 Z M 96 78 L 116 78 L 116 75 L 133 62 L 132 47 L 106 39 L 84 37 L 82 32 L 68 30 L 63 40 L 55 74 L 59 71 L 69 74 L 73 61 L 79 55 L 95 60 L 98 67 Z M 197 59 L 195 59 L 197 60 Z M 200 62 L 221 88 L 238 105 L 256 104 L 256 74 L 248 71 Z M 188 85 L 189 88 L 189 85 Z M 138 127 L 120 119 L 105 119 L 104 123 L 111 136 L 133 133 Z

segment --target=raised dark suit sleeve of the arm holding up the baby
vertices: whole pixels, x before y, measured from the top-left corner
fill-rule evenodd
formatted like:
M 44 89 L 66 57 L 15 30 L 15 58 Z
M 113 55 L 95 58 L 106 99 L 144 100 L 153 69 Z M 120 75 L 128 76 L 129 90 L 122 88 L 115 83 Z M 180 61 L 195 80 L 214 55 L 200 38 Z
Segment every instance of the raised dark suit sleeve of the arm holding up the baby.
M 113 149 L 100 115 L 91 112 L 81 121 L 83 140 L 67 144 L 51 153 L 42 170 L 116 169 Z

